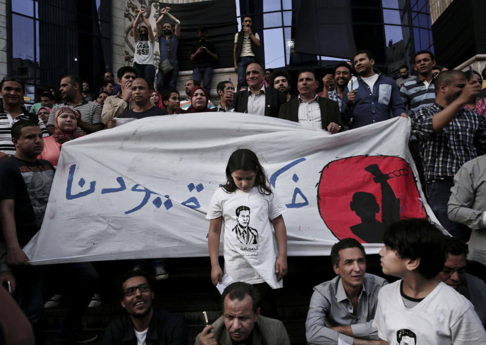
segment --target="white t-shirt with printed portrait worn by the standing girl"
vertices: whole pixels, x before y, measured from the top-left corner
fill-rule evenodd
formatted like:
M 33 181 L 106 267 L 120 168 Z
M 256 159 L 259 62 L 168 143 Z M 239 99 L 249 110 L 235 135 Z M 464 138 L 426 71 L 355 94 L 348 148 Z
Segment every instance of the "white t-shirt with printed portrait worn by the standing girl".
M 287 208 L 272 191 L 269 196 L 261 194 L 257 187 L 248 193 L 240 189 L 226 193 L 223 187 L 219 187 L 211 199 L 206 218 L 223 217 L 224 273 L 235 282 L 266 282 L 273 289 L 283 286 L 275 274 L 278 249 L 270 220 Z M 241 217 L 237 217 L 236 209 L 242 206 L 250 210 L 240 210 Z M 248 213 L 249 222 L 246 224 L 241 219 L 247 215 L 248 221 Z

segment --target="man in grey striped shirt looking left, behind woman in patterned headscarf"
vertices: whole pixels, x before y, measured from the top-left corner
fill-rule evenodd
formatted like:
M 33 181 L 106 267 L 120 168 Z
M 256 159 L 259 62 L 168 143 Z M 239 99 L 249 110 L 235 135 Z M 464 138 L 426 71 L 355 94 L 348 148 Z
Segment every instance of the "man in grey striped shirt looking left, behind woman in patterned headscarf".
M 83 99 L 83 83 L 75 75 L 66 75 L 61 79 L 61 91 L 64 103 L 56 104 L 51 109 L 47 130 L 54 133 L 54 113 L 58 107 L 69 106 L 77 110 L 77 126 L 79 134 L 89 134 L 102 130 L 105 126 L 101 122 L 101 105 Z

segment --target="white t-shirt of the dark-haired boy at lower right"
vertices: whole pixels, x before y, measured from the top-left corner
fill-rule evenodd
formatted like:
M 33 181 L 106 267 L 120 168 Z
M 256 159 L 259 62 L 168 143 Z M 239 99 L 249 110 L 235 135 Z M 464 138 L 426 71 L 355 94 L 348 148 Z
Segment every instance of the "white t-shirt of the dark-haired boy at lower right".
M 486 331 L 466 297 L 440 282 L 412 308 L 403 304 L 398 280 L 380 289 L 373 326 L 380 339 L 399 344 L 397 332 L 407 330 L 417 345 L 484 343 Z M 402 331 L 403 332 L 403 331 Z

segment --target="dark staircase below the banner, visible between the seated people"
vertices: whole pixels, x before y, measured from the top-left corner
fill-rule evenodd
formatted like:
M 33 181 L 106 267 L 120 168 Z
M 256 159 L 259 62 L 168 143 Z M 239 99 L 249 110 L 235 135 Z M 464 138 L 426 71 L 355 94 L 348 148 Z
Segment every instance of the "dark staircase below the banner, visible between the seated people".
M 367 258 L 367 272 L 383 276 L 378 255 Z M 305 344 L 305 319 L 312 287 L 335 277 L 330 257 L 289 257 L 289 274 L 284 278 L 284 288 L 275 290 L 278 318 L 284 322 L 292 344 Z M 98 334 L 92 344 L 101 344 L 106 326 L 125 313 L 115 296 L 115 282 L 119 275 L 133 267 L 131 260 L 94 262 L 100 275 L 99 291 L 103 303 L 98 308 L 88 309 L 83 324 L 86 329 Z M 49 272 L 49 270 L 47 270 Z M 203 311 L 210 322 L 221 315 L 220 294 L 210 281 L 209 257 L 167 259 L 169 279 L 156 282 L 155 308 L 163 308 L 179 315 L 188 329 L 188 343 L 204 328 Z M 46 299 L 55 292 L 52 276 L 46 277 Z M 59 340 L 57 329 L 65 311 L 61 304 L 46 310 L 43 318 L 46 343 L 64 345 Z

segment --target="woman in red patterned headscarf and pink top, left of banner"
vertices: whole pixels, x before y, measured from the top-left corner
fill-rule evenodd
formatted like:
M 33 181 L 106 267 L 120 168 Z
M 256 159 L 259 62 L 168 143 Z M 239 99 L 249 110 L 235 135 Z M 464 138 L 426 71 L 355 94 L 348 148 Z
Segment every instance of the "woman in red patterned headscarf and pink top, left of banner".
M 54 113 L 54 134 L 44 139 L 44 150 L 37 158 L 48 160 L 56 167 L 61 145 L 80 136 L 74 109 L 67 106 L 58 108 Z

